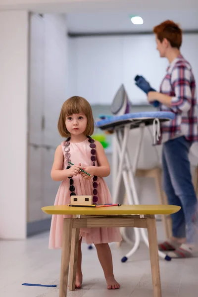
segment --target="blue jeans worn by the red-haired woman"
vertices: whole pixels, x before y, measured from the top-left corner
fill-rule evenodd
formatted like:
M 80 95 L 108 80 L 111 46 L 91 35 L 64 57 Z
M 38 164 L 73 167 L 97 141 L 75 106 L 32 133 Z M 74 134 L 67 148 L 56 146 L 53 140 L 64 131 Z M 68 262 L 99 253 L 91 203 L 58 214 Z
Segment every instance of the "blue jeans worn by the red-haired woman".
M 164 143 L 162 152 L 163 186 L 168 203 L 181 206 L 180 211 L 171 215 L 172 233 L 174 237 L 186 237 L 189 244 L 197 242 L 193 216 L 198 204 L 190 171 L 191 145 L 182 136 Z

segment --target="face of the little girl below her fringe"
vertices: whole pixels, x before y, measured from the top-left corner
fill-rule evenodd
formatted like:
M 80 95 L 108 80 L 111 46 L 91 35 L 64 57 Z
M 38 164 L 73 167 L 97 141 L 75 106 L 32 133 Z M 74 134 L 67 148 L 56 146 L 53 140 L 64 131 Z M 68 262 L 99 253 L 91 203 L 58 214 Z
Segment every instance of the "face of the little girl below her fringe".
M 65 120 L 67 131 L 72 135 L 80 135 L 87 127 L 87 117 L 84 113 L 68 115 Z

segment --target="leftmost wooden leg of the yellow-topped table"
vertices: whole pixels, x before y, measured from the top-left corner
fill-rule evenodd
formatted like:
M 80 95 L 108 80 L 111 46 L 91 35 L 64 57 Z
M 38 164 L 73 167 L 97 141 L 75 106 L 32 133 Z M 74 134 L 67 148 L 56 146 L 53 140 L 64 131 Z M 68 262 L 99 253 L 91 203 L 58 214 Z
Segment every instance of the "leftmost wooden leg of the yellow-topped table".
M 64 219 L 59 297 L 67 296 L 67 284 L 68 284 L 68 273 L 69 273 L 69 262 L 70 262 L 70 250 L 71 250 L 71 232 L 72 232 L 72 218 Z

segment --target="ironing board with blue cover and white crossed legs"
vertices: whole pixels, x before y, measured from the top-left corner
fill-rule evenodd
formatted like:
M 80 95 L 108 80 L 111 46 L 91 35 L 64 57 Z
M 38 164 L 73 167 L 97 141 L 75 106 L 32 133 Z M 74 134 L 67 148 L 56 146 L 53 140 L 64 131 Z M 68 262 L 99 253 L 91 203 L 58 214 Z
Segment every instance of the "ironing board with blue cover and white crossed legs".
M 127 113 L 120 116 L 103 116 L 102 120 L 99 120 L 96 125 L 101 130 L 108 130 L 114 132 L 113 139 L 113 158 L 114 165 L 113 170 L 113 202 L 122 203 L 123 200 L 119 198 L 119 189 L 121 179 L 123 177 L 124 187 L 127 194 L 129 204 L 140 204 L 137 189 L 135 185 L 134 175 L 137 169 L 144 129 L 148 125 L 153 126 L 153 145 L 156 145 L 157 140 L 160 137 L 160 122 L 169 121 L 174 119 L 175 115 L 172 112 L 137 112 Z M 129 138 L 129 132 L 131 129 L 140 128 L 139 139 L 136 143 L 136 150 L 133 152 L 134 161 L 131 164 L 130 151 L 127 146 Z M 126 262 L 127 259 L 137 250 L 140 245 L 140 234 L 143 237 L 145 244 L 148 246 L 148 238 L 145 229 L 134 228 L 135 244 L 133 248 L 122 259 L 122 262 Z M 159 256 L 163 259 L 170 260 L 165 253 L 158 251 Z

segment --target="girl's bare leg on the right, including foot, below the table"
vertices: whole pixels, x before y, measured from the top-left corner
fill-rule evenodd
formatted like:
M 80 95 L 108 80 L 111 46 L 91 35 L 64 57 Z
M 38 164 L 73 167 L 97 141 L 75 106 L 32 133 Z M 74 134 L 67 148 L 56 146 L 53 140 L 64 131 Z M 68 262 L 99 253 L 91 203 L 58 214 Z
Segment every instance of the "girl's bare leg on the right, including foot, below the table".
M 118 284 L 113 275 L 113 263 L 111 250 L 108 244 L 95 245 L 99 257 L 99 262 L 102 266 L 104 277 L 107 283 L 107 289 L 119 289 L 120 284 Z

